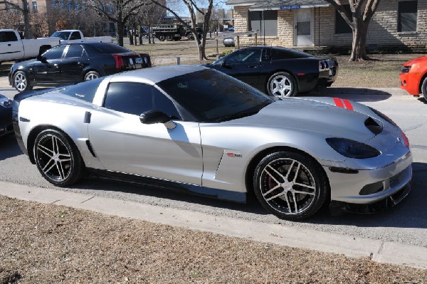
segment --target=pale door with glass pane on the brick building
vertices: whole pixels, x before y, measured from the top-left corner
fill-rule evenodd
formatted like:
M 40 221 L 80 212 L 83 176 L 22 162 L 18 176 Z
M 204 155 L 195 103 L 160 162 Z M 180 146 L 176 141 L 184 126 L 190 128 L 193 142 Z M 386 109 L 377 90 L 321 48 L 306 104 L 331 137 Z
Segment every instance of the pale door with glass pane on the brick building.
M 295 9 L 295 46 L 312 46 L 312 9 Z

